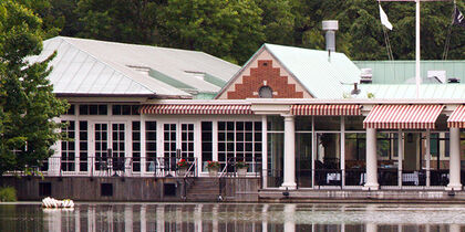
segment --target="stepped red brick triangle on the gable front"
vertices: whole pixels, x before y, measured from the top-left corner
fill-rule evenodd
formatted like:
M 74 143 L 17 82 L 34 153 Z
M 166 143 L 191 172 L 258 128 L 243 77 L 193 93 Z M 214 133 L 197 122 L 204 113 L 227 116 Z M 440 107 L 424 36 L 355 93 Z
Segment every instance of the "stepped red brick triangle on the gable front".
M 227 93 L 228 99 L 258 98 L 260 87 L 272 89 L 273 98 L 303 98 L 303 92 L 289 84 L 288 76 L 280 75 L 280 67 L 272 67 L 271 60 L 259 60 L 258 67 L 250 67 L 250 75 L 242 76 L 242 83 L 234 84 L 235 91 Z

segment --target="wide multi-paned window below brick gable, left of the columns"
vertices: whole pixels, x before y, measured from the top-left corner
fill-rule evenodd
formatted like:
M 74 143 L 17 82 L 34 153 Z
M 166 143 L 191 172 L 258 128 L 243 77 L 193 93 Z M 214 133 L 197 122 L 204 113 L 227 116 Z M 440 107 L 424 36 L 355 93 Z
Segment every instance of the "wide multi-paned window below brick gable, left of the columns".
M 218 122 L 218 161 L 231 158 L 252 164 L 261 157 L 261 122 Z

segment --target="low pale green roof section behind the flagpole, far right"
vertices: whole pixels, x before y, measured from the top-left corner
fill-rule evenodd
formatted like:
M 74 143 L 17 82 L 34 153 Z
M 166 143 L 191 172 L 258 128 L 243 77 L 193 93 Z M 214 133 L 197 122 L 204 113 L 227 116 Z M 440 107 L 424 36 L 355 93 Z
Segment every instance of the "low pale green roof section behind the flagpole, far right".
M 373 84 L 404 84 L 415 77 L 415 61 L 354 61 L 360 68 L 370 67 Z M 465 83 L 465 60 L 461 61 L 422 61 L 421 76 L 427 77 L 427 71 L 446 71 L 447 77 L 458 77 Z M 427 83 L 426 80 L 424 83 Z

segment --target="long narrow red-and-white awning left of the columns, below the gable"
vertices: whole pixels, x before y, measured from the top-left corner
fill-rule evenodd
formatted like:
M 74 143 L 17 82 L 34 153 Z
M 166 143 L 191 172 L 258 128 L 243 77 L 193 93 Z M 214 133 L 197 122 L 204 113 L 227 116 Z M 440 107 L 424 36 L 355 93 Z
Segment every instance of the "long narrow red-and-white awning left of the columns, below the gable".
M 144 105 L 141 114 L 156 115 L 251 115 L 250 105 Z

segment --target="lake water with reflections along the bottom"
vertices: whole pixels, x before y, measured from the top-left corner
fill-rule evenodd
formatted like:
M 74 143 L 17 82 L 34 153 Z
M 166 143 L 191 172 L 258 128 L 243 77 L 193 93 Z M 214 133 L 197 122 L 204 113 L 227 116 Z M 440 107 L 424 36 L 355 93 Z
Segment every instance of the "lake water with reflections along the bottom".
M 0 203 L 0 231 L 465 231 L 461 204 Z

